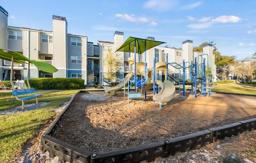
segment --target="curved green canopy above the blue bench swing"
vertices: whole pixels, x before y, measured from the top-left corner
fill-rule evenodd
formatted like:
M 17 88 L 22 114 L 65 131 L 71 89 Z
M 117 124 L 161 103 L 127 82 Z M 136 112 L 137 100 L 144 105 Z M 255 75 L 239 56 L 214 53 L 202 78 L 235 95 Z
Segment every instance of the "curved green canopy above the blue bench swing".
M 43 61 L 29 60 L 26 56 L 16 51 L 11 51 L 9 49 L 0 49 L 0 59 L 11 61 L 12 55 L 14 56 L 14 62 L 16 63 L 29 62 L 34 64 L 37 67 L 37 69 L 42 70 L 44 72 L 53 73 L 58 71 L 58 69 L 56 69 L 53 65 L 50 65 L 49 63 Z

